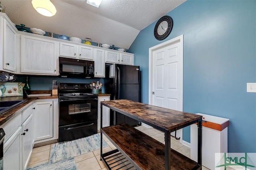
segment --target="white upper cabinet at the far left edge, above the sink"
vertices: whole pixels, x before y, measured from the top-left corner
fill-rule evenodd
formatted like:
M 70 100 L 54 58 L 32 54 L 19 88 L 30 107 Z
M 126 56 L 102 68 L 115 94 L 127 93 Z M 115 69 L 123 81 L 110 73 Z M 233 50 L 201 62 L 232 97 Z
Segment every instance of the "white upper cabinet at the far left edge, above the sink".
M 16 73 L 16 30 L 5 15 L 0 16 L 0 51 L 0 70 Z

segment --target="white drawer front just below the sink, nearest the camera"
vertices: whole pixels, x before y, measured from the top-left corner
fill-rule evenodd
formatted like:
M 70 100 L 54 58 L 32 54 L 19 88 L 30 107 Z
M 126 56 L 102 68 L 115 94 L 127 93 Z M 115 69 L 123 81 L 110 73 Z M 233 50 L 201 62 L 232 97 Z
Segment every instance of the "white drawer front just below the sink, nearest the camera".
M 21 121 L 22 121 L 22 116 L 20 113 L 17 117 L 12 119 L 12 121 L 10 121 L 6 125 L 4 125 L 4 127 L 3 127 L 4 132 L 5 132 L 4 143 L 14 133 L 14 130 L 16 130 L 18 127 L 21 126 Z

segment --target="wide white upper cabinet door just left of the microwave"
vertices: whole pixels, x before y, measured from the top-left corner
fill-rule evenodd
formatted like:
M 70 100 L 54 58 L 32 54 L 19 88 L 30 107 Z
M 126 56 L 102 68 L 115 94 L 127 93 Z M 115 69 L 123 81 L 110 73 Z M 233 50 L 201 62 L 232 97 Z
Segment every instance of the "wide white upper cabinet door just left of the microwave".
M 21 35 L 21 73 L 57 75 L 57 42 Z

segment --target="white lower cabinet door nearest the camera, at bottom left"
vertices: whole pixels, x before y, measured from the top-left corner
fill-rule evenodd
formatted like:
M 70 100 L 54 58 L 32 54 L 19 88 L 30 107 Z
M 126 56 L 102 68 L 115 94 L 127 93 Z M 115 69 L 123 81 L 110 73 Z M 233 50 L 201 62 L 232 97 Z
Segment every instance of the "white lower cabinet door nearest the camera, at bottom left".
M 21 169 L 20 132 L 21 127 L 4 144 L 4 170 Z

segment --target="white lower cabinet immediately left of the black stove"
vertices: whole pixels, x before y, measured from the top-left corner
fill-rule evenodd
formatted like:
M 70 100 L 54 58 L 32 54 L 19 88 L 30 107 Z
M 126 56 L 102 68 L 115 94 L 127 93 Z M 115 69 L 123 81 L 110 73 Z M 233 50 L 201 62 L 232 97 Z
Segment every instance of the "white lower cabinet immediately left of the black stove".
M 34 114 L 35 144 L 58 139 L 58 99 L 38 99 Z

